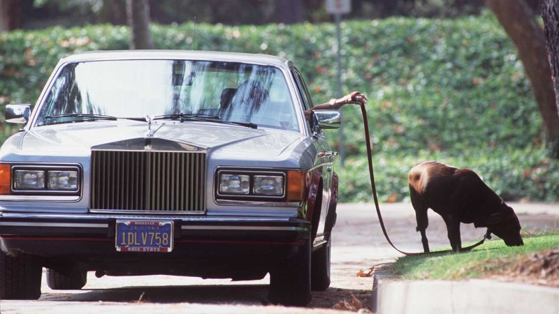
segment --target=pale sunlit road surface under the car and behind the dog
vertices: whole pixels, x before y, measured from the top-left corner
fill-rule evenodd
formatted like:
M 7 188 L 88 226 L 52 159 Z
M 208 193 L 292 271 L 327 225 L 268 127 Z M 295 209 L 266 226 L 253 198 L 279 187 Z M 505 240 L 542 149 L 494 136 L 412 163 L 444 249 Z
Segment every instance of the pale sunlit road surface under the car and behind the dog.
M 525 232 L 559 227 L 559 204 L 510 204 Z M 404 251 L 421 251 L 411 204 L 382 204 L 393 243 Z M 462 225 L 463 244 L 478 241 L 485 230 Z M 431 248 L 449 246 L 442 219 L 430 211 L 427 236 Z M 499 241 L 499 240 L 493 240 Z M 358 277 L 360 269 L 389 262 L 400 254 L 380 230 L 372 204 L 340 204 L 333 233 L 332 284 L 314 292 L 307 308 L 270 306 L 268 277 L 261 281 L 231 282 L 175 276 L 96 278 L 89 272 L 82 290 L 55 291 L 46 285 L 37 301 L 0 301 L 6 313 L 342 313 L 332 310 L 351 294 L 368 305 L 372 278 Z M 44 275 L 44 274 L 43 274 Z

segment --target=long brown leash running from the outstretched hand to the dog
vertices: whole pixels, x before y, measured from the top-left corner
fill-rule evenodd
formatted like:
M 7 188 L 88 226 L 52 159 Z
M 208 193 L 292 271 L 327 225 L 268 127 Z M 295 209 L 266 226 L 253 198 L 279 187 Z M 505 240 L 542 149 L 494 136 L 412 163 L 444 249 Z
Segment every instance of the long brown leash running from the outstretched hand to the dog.
M 453 252 L 453 250 L 446 250 L 446 251 L 435 251 L 435 252 L 429 252 L 429 253 L 409 253 L 409 252 L 405 252 L 405 251 L 401 251 L 400 249 L 398 249 L 391 241 L 388 232 L 386 232 L 386 227 L 384 226 L 384 220 L 382 219 L 382 214 L 380 212 L 380 207 L 379 207 L 379 199 L 377 197 L 377 186 L 375 185 L 375 172 L 373 171 L 373 167 L 372 167 L 372 149 L 371 149 L 371 141 L 370 141 L 370 135 L 369 135 L 369 122 L 367 119 L 367 110 L 365 110 L 365 103 L 359 103 L 359 105 L 361 106 L 361 114 L 363 115 L 363 128 L 365 128 L 365 143 L 367 144 L 367 159 L 368 159 L 368 163 L 369 163 L 369 177 L 371 180 L 371 190 L 372 190 L 372 198 L 375 201 L 375 208 L 377 209 L 377 216 L 379 217 L 379 223 L 380 223 L 380 227 L 382 229 L 382 233 L 384 233 L 384 237 L 386 238 L 386 241 L 389 242 L 389 244 L 398 252 L 402 253 L 403 255 L 407 255 L 407 256 L 416 256 L 416 255 L 426 255 L 426 254 L 430 254 L 430 253 L 447 253 L 447 252 Z M 471 246 L 467 246 L 465 248 L 460 248 L 460 252 L 465 252 L 465 251 L 471 251 L 472 248 L 475 248 L 477 246 L 481 246 L 481 244 L 484 244 L 486 239 L 491 239 L 491 230 L 489 230 L 489 228 L 487 229 L 486 234 L 484 235 L 484 238 L 481 239 L 481 241 L 477 242 L 476 244 L 472 244 Z

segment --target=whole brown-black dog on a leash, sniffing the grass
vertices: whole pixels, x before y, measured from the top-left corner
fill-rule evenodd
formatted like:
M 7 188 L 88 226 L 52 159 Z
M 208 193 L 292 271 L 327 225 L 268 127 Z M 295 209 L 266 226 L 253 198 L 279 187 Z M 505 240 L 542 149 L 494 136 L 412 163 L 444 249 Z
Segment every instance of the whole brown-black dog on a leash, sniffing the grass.
M 447 224 L 450 245 L 454 251 L 462 248 L 460 223 L 487 227 L 507 246 L 524 245 L 520 222 L 512 208 L 472 170 L 426 161 L 412 167 L 407 180 L 423 251 L 429 252 L 425 234 L 429 224 L 429 208 L 442 216 Z

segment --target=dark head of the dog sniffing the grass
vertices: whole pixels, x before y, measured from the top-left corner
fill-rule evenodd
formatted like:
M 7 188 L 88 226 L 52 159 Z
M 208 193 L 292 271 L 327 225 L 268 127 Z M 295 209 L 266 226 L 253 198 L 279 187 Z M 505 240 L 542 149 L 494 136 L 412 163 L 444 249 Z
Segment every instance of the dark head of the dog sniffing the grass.
M 499 211 L 491 214 L 487 220 L 487 227 L 497 237 L 503 239 L 507 246 L 523 246 L 524 241 L 520 235 L 520 221 L 514 214 L 514 210 L 504 202 L 500 205 Z

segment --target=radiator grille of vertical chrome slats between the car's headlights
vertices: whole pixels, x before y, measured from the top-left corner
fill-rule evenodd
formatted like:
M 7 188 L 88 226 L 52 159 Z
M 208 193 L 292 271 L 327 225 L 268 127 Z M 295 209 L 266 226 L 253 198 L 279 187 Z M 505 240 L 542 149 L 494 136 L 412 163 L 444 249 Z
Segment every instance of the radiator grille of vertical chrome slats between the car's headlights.
M 92 211 L 204 211 L 205 154 L 92 151 Z

